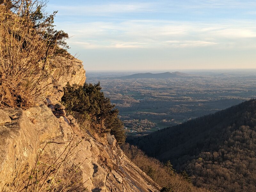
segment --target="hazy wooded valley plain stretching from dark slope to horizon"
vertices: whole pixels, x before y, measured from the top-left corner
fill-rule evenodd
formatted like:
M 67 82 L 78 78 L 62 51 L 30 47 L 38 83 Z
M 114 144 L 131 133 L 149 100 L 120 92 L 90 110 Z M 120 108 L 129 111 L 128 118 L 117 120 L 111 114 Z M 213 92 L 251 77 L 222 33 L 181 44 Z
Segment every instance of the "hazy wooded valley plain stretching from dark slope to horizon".
M 100 81 L 104 94 L 119 109 L 127 134 L 137 135 L 256 98 L 255 72 L 190 70 L 170 78 L 159 74 L 173 73 L 87 72 L 87 82 Z M 152 74 L 155 78 L 142 78 Z

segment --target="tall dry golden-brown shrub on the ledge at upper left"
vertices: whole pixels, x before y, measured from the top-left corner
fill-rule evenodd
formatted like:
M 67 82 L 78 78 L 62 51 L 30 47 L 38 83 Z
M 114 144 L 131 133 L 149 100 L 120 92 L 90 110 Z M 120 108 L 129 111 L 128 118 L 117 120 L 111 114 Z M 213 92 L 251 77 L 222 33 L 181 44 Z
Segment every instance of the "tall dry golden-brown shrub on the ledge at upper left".
M 28 108 L 56 81 L 49 72 L 59 39 L 49 34 L 54 14 L 35 19 L 43 3 L 0 1 L 0 107 Z

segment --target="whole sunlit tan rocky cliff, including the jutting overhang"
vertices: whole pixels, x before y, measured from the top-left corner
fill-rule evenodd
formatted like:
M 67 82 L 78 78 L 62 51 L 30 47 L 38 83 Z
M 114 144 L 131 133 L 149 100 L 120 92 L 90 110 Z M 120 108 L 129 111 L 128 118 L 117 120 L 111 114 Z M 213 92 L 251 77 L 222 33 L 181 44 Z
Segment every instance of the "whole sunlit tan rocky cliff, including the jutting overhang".
M 76 59 L 58 57 L 54 63 L 53 74 L 65 73 L 44 103 L 0 109 L 0 191 L 159 191 L 114 136 L 92 137 L 66 115 L 62 88 L 84 84 L 85 71 Z

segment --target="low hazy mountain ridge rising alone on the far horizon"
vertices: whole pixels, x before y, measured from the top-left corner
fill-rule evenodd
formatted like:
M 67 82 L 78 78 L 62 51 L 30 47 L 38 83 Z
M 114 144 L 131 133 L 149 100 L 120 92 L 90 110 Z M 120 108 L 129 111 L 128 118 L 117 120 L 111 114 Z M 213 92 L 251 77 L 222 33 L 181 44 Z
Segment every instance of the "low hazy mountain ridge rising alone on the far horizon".
M 165 73 L 137 73 L 133 75 L 117 77 L 118 79 L 143 79 L 143 78 L 155 78 L 155 79 L 164 79 L 164 78 L 173 78 L 173 77 L 189 77 L 187 73 L 176 72 L 165 72 Z

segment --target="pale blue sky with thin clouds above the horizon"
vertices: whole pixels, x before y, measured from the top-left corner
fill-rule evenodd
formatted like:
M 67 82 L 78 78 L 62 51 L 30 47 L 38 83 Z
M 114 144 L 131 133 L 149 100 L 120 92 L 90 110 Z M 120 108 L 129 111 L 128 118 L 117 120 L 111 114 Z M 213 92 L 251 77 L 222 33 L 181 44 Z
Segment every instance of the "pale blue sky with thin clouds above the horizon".
M 49 0 L 86 70 L 256 68 L 256 1 Z

